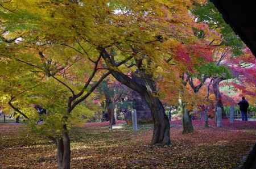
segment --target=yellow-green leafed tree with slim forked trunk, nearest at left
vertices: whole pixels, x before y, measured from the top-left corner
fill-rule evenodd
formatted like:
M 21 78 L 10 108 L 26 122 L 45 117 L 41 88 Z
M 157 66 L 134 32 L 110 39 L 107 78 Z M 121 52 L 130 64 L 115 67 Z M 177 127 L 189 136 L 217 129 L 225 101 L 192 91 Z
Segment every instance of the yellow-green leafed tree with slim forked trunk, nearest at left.
M 5 5 L 11 7 L 20 5 L 19 3 L 12 1 Z M 24 1 L 15 12 L 8 10 L 8 17 L 3 18 L 6 21 L 3 27 L 14 32 L 18 32 L 19 27 L 8 27 L 9 21 L 13 22 L 13 18 L 18 18 L 20 22 L 26 20 L 22 27 L 26 35 L 21 37 L 20 43 L 16 43 L 15 53 L 1 53 L 1 65 L 6 67 L 1 74 L 5 78 L 1 79 L 3 95 L 6 96 L 3 99 L 7 98 L 6 102 L 10 107 L 26 117 L 27 124 L 32 130 L 55 142 L 59 168 L 70 168 L 69 129 L 75 124 L 74 121 L 81 117 L 79 113 L 81 115 L 88 111 L 81 103 L 110 72 L 101 71 L 101 56 L 97 53 L 90 53 L 92 56 L 88 56 L 81 48 L 76 49 L 74 53 L 75 48 L 63 47 L 63 44 L 49 43 L 47 39 L 42 39 L 45 28 L 42 23 L 45 18 L 34 14 L 35 17 L 27 20 L 24 15 L 32 16 L 31 12 L 34 9 L 28 12 L 26 3 L 27 1 Z M 40 7 L 36 8 L 35 3 L 32 5 L 40 10 Z M 18 15 L 19 12 L 22 15 Z M 9 35 L 10 33 L 7 33 L 6 36 Z M 6 37 L 3 36 L 2 39 Z M 120 62 L 117 66 L 125 62 Z M 36 125 L 38 116 L 35 109 L 31 108 L 31 103 L 47 109 L 43 125 Z

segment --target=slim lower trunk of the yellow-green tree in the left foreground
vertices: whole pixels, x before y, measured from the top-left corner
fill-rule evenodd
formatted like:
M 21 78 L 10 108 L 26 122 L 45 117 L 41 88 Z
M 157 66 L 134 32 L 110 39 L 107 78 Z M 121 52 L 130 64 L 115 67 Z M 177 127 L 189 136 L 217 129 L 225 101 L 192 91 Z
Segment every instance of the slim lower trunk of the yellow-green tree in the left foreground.
M 64 128 L 67 126 L 64 125 Z M 70 168 L 71 149 L 67 130 L 64 130 L 62 137 L 57 140 L 57 159 L 59 169 Z

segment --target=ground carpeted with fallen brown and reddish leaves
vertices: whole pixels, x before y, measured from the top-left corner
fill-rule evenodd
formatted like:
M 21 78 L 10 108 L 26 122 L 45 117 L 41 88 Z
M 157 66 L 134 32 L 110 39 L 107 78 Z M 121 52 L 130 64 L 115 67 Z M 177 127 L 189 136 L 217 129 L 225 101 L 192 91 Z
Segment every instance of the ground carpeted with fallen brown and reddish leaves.
M 256 142 L 256 121 L 223 121 L 216 128 L 193 120 L 195 132 L 181 134 L 181 121 L 171 121 L 171 146 L 151 146 L 152 125 L 137 133 L 118 121 L 88 123 L 71 132 L 71 168 L 235 168 Z M 27 134 L 24 125 L 0 123 L 0 168 L 57 168 L 56 147 Z

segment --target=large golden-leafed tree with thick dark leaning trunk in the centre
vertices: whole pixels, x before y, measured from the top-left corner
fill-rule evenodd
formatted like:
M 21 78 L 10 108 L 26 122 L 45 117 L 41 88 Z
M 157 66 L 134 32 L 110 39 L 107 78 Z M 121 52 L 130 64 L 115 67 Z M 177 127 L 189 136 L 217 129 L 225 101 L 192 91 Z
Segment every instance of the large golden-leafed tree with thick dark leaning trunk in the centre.
M 46 6 L 45 3 L 41 5 Z M 104 58 L 105 68 L 119 82 L 146 99 L 155 121 L 152 143 L 168 145 L 170 124 L 158 98 L 153 72 L 159 61 L 167 57 L 166 53 L 172 53 L 181 38 L 186 39 L 180 34 L 172 35 L 171 30 L 172 25 L 176 30 L 182 28 L 180 20 L 188 24 L 193 22 L 187 10 L 191 5 L 190 1 L 185 4 L 157 1 L 51 3 L 51 8 L 47 8 L 49 20 L 42 26 L 47 32 L 44 39 L 74 50 L 80 48 L 88 55 L 97 52 Z M 176 12 L 172 12 L 172 9 Z M 52 28 L 55 31 L 47 31 Z M 190 29 L 189 26 L 187 29 Z M 117 69 L 119 64 L 126 61 L 129 61 L 129 69 Z M 158 64 L 154 61 L 158 61 Z M 143 78 L 143 83 L 131 81 L 126 74 L 134 70 L 139 70 L 138 75 Z

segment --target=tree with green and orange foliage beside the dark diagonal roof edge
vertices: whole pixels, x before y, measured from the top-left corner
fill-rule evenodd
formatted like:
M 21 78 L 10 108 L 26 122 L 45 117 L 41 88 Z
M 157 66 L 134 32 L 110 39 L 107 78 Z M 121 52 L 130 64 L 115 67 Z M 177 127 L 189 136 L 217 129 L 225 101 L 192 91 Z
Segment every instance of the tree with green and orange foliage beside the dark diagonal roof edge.
M 242 43 L 232 30 L 232 28 L 225 23 L 221 14 L 218 12 L 213 3 L 207 1 L 204 5 L 196 5 L 192 10 L 196 16 L 196 21 L 204 23 L 209 28 L 216 32 L 210 39 L 209 45 L 216 47 L 212 64 L 205 67 L 203 65 L 204 73 L 210 78 L 210 85 L 216 98 L 216 107 L 222 108 L 222 116 L 225 117 L 224 105 L 222 103 L 222 96 L 219 90 L 220 83 L 227 79 L 232 79 L 234 74 L 232 72 L 232 65 L 229 60 L 232 58 L 242 59 L 245 45 Z M 228 64 L 229 63 L 229 64 Z M 206 68 L 206 69 L 205 69 Z M 229 73 L 228 73 L 229 71 Z

